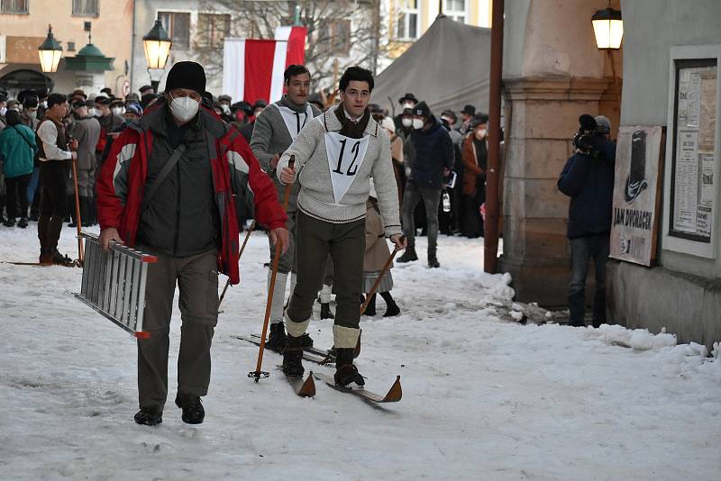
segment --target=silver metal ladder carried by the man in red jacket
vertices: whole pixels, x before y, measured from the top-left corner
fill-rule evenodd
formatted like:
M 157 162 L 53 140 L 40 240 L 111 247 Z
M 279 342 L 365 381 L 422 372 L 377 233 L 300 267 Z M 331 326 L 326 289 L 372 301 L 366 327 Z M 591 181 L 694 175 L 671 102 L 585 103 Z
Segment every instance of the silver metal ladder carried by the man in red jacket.
M 116 242 L 106 252 L 95 234 L 81 232 L 80 237 L 86 240 L 86 251 L 75 296 L 136 338 L 148 339 L 150 332 L 142 330 L 145 286 L 148 264 L 158 258 Z

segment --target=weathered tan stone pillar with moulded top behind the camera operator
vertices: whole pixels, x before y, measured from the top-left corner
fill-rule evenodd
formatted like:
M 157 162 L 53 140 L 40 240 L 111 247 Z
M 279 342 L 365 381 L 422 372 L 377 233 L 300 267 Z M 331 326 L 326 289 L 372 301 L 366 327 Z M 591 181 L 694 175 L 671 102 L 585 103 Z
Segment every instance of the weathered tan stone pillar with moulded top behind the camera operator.
M 569 199 L 556 182 L 570 157 L 581 113 L 597 115 L 607 78 L 505 78 L 507 119 L 500 272 L 513 277 L 516 299 L 567 304 Z

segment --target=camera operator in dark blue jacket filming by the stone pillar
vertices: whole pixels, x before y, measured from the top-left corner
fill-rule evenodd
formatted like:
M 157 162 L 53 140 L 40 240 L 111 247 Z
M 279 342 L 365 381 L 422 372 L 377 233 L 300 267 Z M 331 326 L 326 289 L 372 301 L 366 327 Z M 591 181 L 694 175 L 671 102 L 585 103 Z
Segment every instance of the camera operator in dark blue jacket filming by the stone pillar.
M 611 123 L 603 115 L 580 116 L 573 138 L 573 155 L 558 179 L 559 190 L 570 197 L 570 325 L 583 326 L 589 260 L 596 268 L 593 327 L 606 322 L 606 262 L 610 245 L 611 203 L 614 192 L 616 144 L 609 140 Z

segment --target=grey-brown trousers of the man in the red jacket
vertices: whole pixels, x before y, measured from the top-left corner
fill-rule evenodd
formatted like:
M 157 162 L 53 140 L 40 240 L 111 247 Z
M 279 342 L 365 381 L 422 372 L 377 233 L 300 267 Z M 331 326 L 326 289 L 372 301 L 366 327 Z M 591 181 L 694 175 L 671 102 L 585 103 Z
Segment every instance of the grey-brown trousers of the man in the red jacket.
M 140 407 L 160 406 L 168 397 L 168 352 L 173 295 L 178 284 L 180 350 L 178 392 L 206 395 L 210 384 L 210 346 L 218 322 L 217 253 L 174 258 L 147 247 L 139 250 L 158 256 L 148 269 L 143 331 L 150 339 L 138 340 L 138 395 Z

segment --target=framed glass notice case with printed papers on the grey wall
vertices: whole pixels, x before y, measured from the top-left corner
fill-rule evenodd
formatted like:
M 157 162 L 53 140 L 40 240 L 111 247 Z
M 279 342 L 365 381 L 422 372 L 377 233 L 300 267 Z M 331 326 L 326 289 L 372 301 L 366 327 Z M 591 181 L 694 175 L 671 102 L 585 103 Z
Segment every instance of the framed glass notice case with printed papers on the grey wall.
M 669 235 L 705 243 L 714 229 L 717 75 L 716 59 L 676 69 Z

